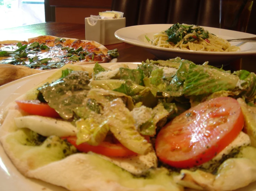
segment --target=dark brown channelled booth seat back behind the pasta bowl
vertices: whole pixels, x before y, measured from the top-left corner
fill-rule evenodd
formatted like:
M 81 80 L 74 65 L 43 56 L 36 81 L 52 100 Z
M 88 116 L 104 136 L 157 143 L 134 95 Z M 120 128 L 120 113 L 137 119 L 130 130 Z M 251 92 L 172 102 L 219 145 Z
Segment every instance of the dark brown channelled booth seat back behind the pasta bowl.
M 247 32 L 256 34 L 254 2 Z M 219 0 L 113 0 L 111 10 L 124 12 L 126 27 L 140 24 L 220 26 Z

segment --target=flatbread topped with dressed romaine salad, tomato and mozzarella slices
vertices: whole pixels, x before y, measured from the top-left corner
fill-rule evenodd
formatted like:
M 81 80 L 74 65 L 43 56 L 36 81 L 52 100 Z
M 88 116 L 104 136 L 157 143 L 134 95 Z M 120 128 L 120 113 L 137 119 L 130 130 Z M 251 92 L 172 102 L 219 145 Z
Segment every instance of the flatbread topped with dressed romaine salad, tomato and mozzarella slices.
M 3 111 L 24 176 L 71 191 L 226 191 L 256 181 L 256 76 L 180 58 L 66 64 Z

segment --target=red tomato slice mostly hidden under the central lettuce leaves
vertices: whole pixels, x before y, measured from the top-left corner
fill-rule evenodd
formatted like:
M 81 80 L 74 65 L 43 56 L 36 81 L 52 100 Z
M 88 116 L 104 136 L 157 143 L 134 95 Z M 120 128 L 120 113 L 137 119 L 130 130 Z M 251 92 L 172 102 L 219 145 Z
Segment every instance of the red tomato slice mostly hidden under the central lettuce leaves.
M 92 146 L 88 143 L 82 143 L 77 145 L 77 137 L 63 137 L 62 139 L 67 139 L 68 142 L 74 145 L 77 150 L 81 152 L 92 151 L 108 157 L 127 157 L 131 155 L 136 155 L 135 152 L 127 149 L 121 143 L 101 142 L 98 146 Z

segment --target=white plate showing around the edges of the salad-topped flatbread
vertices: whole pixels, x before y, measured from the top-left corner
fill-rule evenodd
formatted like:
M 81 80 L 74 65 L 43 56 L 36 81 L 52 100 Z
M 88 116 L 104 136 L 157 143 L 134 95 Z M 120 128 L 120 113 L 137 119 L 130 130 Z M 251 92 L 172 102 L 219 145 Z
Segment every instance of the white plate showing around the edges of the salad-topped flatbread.
M 110 67 L 118 63 L 102 63 L 101 66 Z M 128 63 L 132 69 L 138 63 Z M 94 66 L 89 64 L 87 66 Z M 0 87 L 0 117 L 3 109 L 28 90 L 36 87 L 41 81 L 50 77 L 55 70 L 46 71 L 19 80 L 10 82 Z M 41 180 L 26 178 L 15 168 L 0 144 L 0 190 L 1 191 L 68 191 L 62 187 L 43 182 Z M 237 191 L 255 191 L 256 182 Z

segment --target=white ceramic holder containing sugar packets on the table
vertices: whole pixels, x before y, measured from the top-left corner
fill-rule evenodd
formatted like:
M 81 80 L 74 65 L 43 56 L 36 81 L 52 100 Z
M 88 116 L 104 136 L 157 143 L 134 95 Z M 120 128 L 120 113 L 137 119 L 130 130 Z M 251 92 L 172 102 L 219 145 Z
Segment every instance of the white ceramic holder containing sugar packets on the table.
M 121 43 L 115 37 L 115 31 L 125 27 L 125 17 L 120 19 L 98 19 L 95 25 L 85 18 L 85 39 L 94 40 L 103 45 Z

